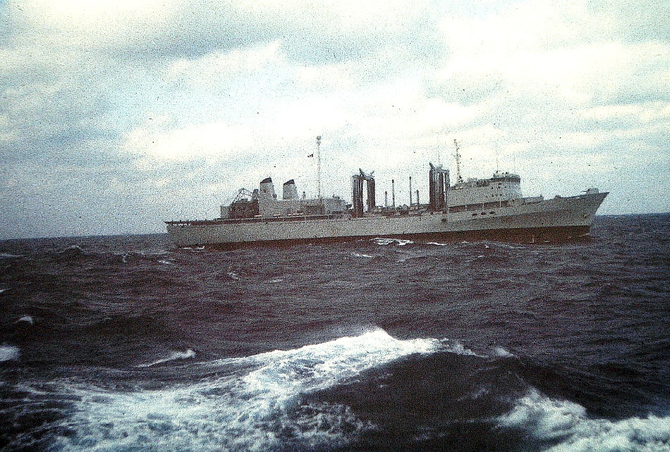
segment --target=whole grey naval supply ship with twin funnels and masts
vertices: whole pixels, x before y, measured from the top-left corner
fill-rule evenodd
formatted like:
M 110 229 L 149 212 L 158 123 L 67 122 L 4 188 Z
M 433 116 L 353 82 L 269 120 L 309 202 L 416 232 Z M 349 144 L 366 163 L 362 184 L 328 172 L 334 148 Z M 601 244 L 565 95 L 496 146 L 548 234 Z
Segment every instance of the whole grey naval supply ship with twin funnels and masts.
M 293 179 L 279 199 L 272 178 L 253 191 L 240 188 L 217 219 L 165 221 L 178 247 L 284 244 L 364 238 L 406 240 L 513 240 L 547 243 L 580 240 L 590 233 L 594 216 L 607 192 L 587 188 L 579 195 L 523 197 L 516 173 L 495 171 L 489 178 L 461 177 L 456 145 L 456 180 L 449 169 L 428 164 L 428 202 L 419 202 L 410 178 L 410 202 L 396 206 L 385 193 L 377 205 L 374 171 L 351 176 L 351 204 L 342 197 L 298 195 Z M 317 138 L 317 149 L 320 137 Z M 367 193 L 366 193 L 367 192 Z M 415 197 L 413 196 L 415 194 Z

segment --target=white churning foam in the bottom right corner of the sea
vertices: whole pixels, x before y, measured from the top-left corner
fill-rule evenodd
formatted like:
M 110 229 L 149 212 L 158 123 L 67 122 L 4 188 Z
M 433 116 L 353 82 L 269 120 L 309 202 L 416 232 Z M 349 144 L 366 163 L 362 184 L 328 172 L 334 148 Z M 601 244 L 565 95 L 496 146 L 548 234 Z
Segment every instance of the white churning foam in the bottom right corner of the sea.
M 547 452 L 670 451 L 670 416 L 631 417 L 611 421 L 590 419 L 586 409 L 530 391 L 511 412 L 499 417 L 500 427 L 523 429 L 533 439 L 553 444 Z

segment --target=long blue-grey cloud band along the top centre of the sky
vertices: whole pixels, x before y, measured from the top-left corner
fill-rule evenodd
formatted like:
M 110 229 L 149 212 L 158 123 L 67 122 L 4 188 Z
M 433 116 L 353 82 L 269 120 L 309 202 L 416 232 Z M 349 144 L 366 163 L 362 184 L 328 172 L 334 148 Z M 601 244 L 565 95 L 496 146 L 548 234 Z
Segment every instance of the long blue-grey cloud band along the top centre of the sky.
M 214 51 L 247 49 L 279 41 L 294 61 L 329 64 L 364 59 L 389 49 L 398 61 L 435 61 L 439 44 L 437 11 L 423 11 L 402 30 L 374 22 L 349 28 L 327 8 L 302 11 L 245 9 L 232 2 L 188 1 L 157 29 L 132 32 L 109 51 L 127 59 L 197 59 Z

